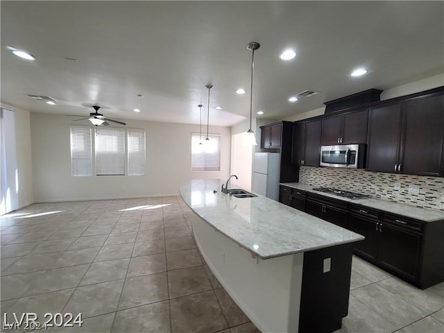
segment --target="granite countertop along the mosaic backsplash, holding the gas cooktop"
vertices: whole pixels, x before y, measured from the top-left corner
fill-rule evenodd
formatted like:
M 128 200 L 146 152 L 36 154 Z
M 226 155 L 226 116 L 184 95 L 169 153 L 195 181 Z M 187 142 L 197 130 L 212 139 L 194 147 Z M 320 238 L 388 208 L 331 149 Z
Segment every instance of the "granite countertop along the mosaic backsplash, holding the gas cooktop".
M 348 201 L 357 205 L 362 205 L 376 210 L 382 210 L 384 212 L 398 214 L 411 219 L 417 219 L 424 222 L 433 222 L 444 220 L 444 212 L 438 210 L 429 210 L 426 208 L 413 207 L 409 205 L 403 205 L 402 203 L 394 203 L 393 201 L 382 200 L 377 198 L 361 198 L 361 199 L 349 199 L 341 196 L 335 196 L 334 194 L 327 194 L 320 191 L 314 191 L 313 188 L 318 186 L 311 186 L 306 184 L 300 184 L 298 182 L 283 182 L 280 185 L 292 187 L 293 189 L 300 189 L 302 191 L 308 191 L 322 196 L 335 198 L 338 200 Z

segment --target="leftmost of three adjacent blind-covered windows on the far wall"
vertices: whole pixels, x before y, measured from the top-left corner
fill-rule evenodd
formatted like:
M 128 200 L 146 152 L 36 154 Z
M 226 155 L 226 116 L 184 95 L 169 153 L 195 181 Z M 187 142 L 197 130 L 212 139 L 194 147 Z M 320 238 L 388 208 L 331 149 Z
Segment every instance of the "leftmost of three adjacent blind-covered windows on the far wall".
M 91 128 L 71 127 L 71 174 L 92 176 Z

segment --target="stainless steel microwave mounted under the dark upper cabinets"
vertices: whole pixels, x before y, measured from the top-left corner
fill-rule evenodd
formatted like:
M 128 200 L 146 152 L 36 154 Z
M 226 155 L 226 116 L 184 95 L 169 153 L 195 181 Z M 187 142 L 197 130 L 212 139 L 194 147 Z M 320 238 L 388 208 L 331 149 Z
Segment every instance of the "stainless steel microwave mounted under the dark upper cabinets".
M 365 144 L 321 146 L 321 167 L 364 168 Z

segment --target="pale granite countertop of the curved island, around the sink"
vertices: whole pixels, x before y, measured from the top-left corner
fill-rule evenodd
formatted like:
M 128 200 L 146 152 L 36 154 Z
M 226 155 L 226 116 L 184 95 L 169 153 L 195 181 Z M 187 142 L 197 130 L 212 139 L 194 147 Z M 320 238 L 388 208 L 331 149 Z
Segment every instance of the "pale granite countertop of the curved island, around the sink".
M 221 193 L 223 183 L 214 179 L 189 180 L 180 186 L 180 195 L 198 216 L 262 259 L 364 239 L 264 196 L 236 198 Z

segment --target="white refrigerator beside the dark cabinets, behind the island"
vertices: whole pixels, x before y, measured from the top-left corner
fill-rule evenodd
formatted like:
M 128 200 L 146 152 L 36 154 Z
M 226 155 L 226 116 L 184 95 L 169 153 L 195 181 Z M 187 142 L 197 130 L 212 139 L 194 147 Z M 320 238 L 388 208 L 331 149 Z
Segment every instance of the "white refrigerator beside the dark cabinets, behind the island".
M 280 153 L 255 153 L 253 192 L 279 200 Z

